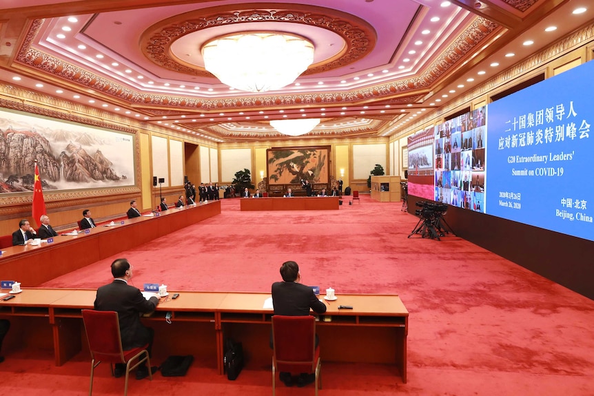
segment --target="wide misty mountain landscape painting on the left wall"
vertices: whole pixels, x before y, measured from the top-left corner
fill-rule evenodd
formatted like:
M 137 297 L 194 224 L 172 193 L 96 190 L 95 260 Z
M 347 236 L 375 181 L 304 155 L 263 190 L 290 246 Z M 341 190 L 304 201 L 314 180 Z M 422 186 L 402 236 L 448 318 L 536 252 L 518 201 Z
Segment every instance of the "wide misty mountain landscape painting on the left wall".
M 0 193 L 134 185 L 134 135 L 0 110 Z

